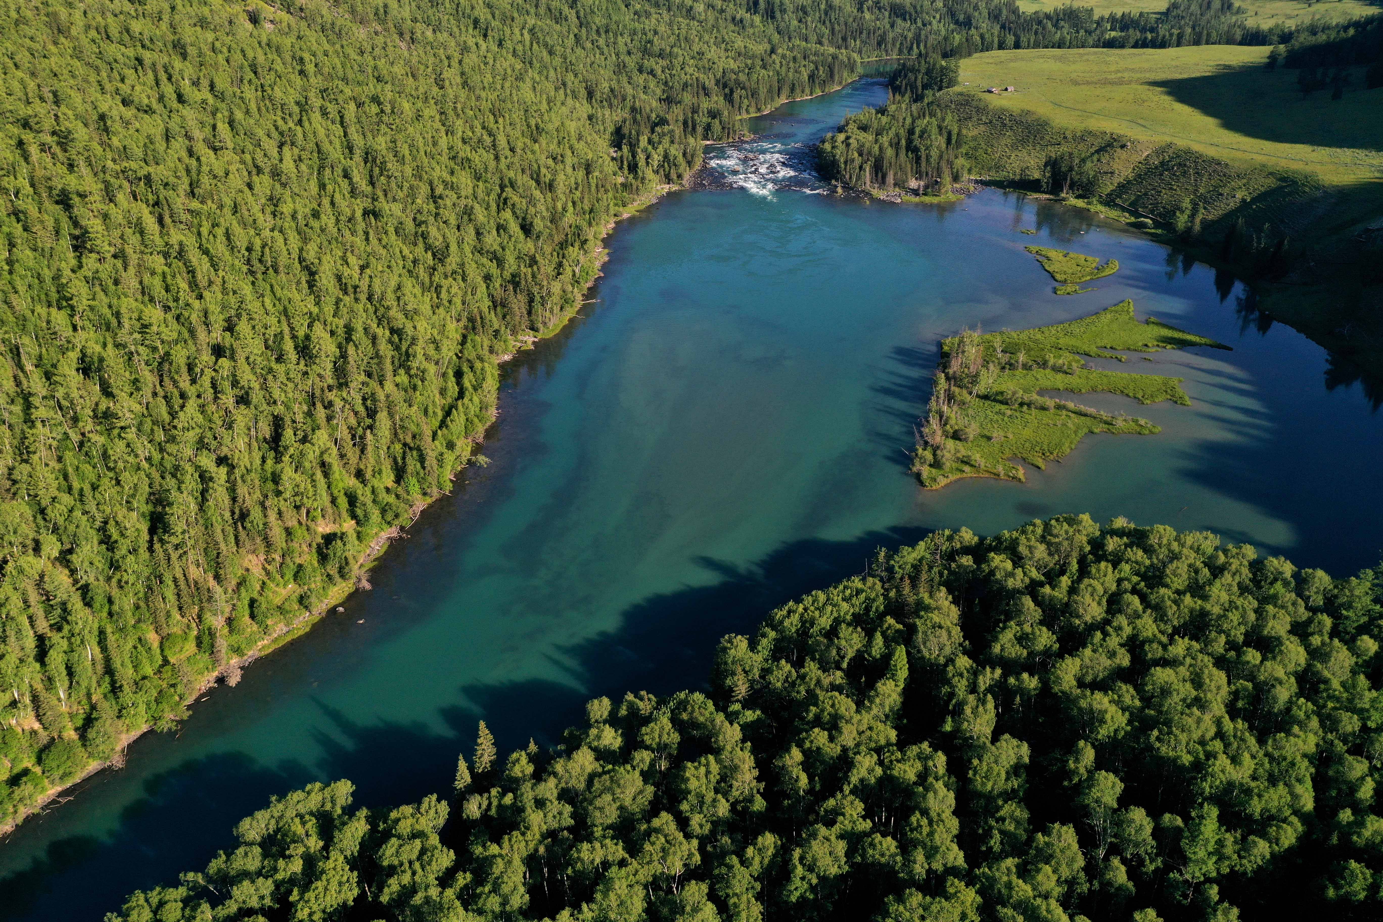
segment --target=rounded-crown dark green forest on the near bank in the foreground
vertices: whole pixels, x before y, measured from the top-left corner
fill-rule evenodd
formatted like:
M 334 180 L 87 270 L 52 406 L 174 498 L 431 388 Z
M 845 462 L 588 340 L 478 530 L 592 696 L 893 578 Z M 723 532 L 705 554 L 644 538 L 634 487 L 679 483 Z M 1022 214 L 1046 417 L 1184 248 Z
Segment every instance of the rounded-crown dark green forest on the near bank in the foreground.
M 1383 567 L 939 532 L 726 637 L 709 694 L 506 759 L 481 724 L 396 810 L 311 785 L 108 922 L 1377 918 L 1380 632 Z

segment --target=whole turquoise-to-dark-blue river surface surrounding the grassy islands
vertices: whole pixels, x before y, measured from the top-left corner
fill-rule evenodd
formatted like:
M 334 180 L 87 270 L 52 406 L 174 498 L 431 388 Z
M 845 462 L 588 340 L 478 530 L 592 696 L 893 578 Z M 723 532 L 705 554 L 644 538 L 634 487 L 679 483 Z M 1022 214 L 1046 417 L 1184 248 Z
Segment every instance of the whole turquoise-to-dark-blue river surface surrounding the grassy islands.
M 1084 511 L 1335 574 L 1379 558 L 1383 424 L 1358 387 L 1326 390 L 1319 347 L 1260 332 L 1232 279 L 1217 290 L 1209 268 L 1087 213 L 996 191 L 824 194 L 808 145 L 884 95 L 862 82 L 790 104 L 758 142 L 711 151 L 732 188 L 621 224 L 596 303 L 506 366 L 494 463 L 389 550 L 373 592 L 0 843 L 0 918 L 100 918 L 311 780 L 353 778 L 368 805 L 445 789 L 480 717 L 503 745 L 552 741 L 588 697 L 700 684 L 723 633 L 929 528 Z M 1058 297 L 1033 242 L 1120 270 Z M 1126 366 L 1185 377 L 1192 406 L 1087 398 L 1164 431 L 1087 438 L 1026 485 L 918 489 L 907 449 L 939 337 L 1124 297 L 1234 346 Z

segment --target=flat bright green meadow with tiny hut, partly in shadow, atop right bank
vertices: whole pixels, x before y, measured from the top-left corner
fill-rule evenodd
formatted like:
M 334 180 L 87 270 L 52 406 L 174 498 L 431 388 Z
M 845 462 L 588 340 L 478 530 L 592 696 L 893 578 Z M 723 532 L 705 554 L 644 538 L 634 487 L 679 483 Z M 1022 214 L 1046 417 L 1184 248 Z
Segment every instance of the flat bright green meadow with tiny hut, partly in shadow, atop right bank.
M 1303 98 L 1297 72 L 1264 68 L 1263 47 L 993 51 L 961 61 L 971 88 L 1059 124 L 1182 144 L 1231 163 L 1307 170 L 1330 185 L 1383 177 L 1383 88 Z

